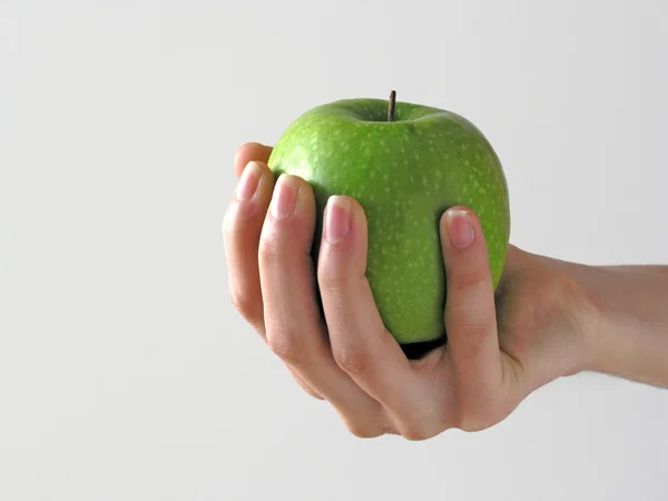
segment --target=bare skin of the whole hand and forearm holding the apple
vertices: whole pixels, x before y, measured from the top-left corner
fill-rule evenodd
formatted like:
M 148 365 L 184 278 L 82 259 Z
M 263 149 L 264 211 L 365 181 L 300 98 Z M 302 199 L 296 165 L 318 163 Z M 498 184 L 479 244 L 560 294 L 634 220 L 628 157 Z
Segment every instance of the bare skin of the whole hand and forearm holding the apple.
M 364 275 L 362 207 L 330 199 L 314 269 L 313 191 L 295 176 L 275 181 L 271 151 L 247 144 L 235 156 L 240 180 L 224 219 L 230 298 L 354 435 L 484 430 L 540 386 L 582 371 L 668 387 L 668 266 L 584 266 L 511 245 L 494 294 L 480 222 L 465 207 L 440 225 L 448 344 L 406 358 Z

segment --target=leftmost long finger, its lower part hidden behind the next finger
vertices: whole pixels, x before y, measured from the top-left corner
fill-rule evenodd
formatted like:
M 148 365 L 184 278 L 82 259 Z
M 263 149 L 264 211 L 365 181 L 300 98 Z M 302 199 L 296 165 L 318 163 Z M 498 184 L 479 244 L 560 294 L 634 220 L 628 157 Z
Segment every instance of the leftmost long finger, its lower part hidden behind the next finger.
M 257 253 L 273 189 L 274 175 L 266 164 L 249 163 L 243 170 L 223 222 L 232 302 L 262 335 L 264 307 Z

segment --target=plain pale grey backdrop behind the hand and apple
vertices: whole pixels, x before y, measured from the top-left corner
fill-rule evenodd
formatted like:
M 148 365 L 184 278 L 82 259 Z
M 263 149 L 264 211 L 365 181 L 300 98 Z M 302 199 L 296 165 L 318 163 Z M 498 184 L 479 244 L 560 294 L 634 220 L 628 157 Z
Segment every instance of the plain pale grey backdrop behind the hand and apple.
M 0 1 L 0 500 L 668 499 L 668 391 L 352 436 L 233 310 L 233 153 L 313 106 L 462 114 L 512 235 L 668 263 L 665 0 Z

